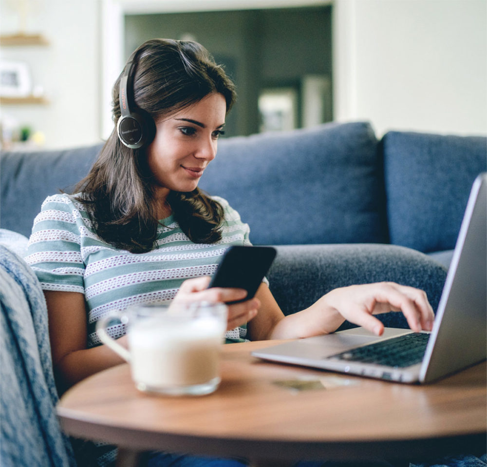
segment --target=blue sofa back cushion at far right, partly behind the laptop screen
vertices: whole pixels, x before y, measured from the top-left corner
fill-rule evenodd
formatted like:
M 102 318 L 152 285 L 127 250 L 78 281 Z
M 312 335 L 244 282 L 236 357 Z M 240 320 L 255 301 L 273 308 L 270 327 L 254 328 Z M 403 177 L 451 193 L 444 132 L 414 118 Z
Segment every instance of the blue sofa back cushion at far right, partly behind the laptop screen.
M 473 181 L 487 170 L 487 138 L 391 131 L 382 145 L 391 243 L 454 248 Z

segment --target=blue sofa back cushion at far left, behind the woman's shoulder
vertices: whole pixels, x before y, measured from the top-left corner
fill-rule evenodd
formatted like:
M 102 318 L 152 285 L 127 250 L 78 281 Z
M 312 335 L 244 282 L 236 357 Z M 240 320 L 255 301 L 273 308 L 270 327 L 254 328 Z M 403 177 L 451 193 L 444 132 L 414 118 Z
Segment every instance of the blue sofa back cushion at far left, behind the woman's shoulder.
M 0 226 L 30 237 L 42 202 L 84 178 L 102 145 L 3 152 L 0 158 Z

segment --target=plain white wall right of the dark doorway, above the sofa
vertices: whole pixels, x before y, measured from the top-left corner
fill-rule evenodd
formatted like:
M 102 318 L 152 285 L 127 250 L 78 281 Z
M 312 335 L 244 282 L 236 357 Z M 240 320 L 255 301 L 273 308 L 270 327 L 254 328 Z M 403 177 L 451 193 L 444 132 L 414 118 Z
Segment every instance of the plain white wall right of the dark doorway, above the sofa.
M 337 0 L 335 115 L 487 133 L 486 0 Z

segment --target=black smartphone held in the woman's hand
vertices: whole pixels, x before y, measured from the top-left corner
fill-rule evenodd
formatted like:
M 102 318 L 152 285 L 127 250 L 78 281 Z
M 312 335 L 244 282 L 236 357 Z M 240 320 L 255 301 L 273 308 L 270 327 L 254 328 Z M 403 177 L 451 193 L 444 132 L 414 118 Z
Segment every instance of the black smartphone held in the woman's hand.
M 247 291 L 247 296 L 243 300 L 229 304 L 253 298 L 276 253 L 272 246 L 230 246 L 225 251 L 208 288 L 236 287 Z

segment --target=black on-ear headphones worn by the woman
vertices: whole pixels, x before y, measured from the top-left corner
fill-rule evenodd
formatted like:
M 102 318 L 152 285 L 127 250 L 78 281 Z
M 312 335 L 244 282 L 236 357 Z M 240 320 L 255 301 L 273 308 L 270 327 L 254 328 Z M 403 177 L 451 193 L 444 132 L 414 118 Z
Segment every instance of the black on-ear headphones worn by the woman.
M 133 102 L 132 91 L 132 68 L 134 67 L 135 50 L 127 60 L 125 70 L 120 78 L 120 90 L 118 99 L 122 115 L 117 123 L 117 135 L 120 141 L 130 149 L 139 149 L 150 144 L 155 134 L 155 126 L 152 117 L 147 112 L 142 115 L 141 111 L 132 112 L 130 109 Z

